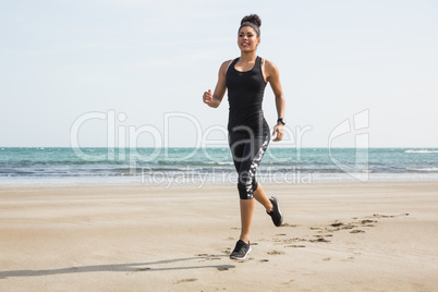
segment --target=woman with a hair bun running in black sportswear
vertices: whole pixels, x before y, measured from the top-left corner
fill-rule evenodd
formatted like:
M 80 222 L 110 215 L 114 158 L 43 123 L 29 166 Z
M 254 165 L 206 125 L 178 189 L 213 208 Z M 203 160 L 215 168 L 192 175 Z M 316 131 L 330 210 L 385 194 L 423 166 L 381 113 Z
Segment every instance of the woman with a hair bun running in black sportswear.
M 250 228 L 254 214 L 254 198 L 260 203 L 273 224 L 280 227 L 282 215 L 277 197 L 265 195 L 255 180 L 255 172 L 268 146 L 269 126 L 264 118 L 261 102 L 266 84 L 276 96 L 278 121 L 272 135 L 275 142 L 283 137 L 284 97 L 277 66 L 256 54 L 260 44 L 261 21 L 256 14 L 243 17 L 239 28 L 238 46 L 241 57 L 222 63 L 215 93 L 204 93 L 203 100 L 211 108 L 219 107 L 228 89 L 230 105 L 228 131 L 229 145 L 235 170 L 239 173 L 238 190 L 241 209 L 241 234 L 231 253 L 232 259 L 244 259 L 251 252 Z

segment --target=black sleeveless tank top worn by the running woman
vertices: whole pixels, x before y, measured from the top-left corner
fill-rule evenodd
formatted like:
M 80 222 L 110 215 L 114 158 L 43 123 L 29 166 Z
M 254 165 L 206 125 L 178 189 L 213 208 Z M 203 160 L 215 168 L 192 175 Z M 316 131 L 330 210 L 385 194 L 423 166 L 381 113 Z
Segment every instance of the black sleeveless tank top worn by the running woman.
M 243 125 L 250 127 L 254 133 L 265 134 L 269 132 L 269 126 L 261 109 L 266 87 L 261 73 L 261 58 L 257 57 L 254 68 L 245 72 L 235 70 L 234 65 L 239 59 L 230 64 L 226 75 L 230 105 L 228 131 Z

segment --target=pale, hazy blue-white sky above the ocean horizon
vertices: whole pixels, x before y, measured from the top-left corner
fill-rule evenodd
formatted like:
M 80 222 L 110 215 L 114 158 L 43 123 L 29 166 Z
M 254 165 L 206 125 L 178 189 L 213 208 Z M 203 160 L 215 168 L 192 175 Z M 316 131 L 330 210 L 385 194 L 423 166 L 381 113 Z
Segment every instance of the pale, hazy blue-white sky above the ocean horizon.
M 227 96 L 202 95 L 251 13 L 287 101 L 271 145 L 438 147 L 425 0 L 0 0 L 0 147 L 227 146 Z M 272 127 L 269 85 L 264 112 Z

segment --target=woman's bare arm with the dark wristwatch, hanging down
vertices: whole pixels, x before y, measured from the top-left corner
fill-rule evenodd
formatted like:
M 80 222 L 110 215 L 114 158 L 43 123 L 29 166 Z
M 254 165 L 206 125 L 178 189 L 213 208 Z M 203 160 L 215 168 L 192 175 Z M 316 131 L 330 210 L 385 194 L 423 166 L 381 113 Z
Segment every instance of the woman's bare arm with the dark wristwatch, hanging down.
M 265 60 L 265 72 L 266 72 L 266 80 L 269 82 L 270 87 L 272 88 L 273 95 L 276 96 L 276 107 L 277 107 L 277 114 L 278 118 L 284 118 L 284 108 L 285 108 L 285 100 L 283 95 L 283 89 L 281 88 L 280 83 L 280 72 L 278 68 L 270 61 Z M 277 137 L 273 139 L 275 142 L 281 141 L 283 138 L 283 123 L 278 122 L 273 127 L 272 135 Z

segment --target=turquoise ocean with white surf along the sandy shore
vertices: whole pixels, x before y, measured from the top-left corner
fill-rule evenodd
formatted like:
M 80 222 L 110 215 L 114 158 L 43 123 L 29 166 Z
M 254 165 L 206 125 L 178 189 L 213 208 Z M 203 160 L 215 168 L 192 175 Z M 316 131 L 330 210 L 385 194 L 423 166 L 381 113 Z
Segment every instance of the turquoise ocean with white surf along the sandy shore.
M 268 148 L 257 180 L 438 180 L 438 148 Z M 0 185 L 235 183 L 228 148 L 0 148 Z

